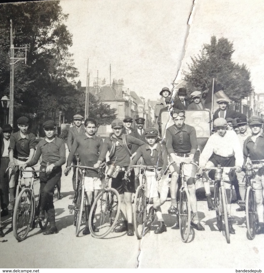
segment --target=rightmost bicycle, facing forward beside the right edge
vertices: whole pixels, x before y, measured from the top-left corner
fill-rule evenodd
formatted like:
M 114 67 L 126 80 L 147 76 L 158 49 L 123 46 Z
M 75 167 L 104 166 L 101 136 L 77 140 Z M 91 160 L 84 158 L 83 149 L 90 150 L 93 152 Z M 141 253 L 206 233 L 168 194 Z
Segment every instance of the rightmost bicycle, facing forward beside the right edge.
M 252 162 L 259 162 L 253 161 Z M 263 167 L 263 164 L 251 164 L 247 163 L 245 167 L 245 179 L 246 179 L 246 193 L 245 193 L 245 201 L 238 201 L 239 205 L 243 205 L 246 207 L 246 224 L 247 224 L 247 238 L 249 240 L 253 240 L 255 238 L 256 225 L 257 225 L 257 209 L 256 209 L 256 197 L 254 190 L 254 176 L 256 175 L 256 169 L 258 169 L 259 165 Z

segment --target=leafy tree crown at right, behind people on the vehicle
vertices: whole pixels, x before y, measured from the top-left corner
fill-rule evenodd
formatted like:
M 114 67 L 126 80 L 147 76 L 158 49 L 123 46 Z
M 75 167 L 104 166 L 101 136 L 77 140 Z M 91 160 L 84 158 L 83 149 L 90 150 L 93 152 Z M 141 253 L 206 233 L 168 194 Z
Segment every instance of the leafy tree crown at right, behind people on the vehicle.
M 189 71 L 184 72 L 188 93 L 195 90 L 205 91 L 211 88 L 215 78 L 230 99 L 239 102 L 253 91 L 250 71 L 245 64 L 232 61 L 233 43 L 226 38 L 216 40 L 211 37 L 210 44 L 204 44 L 200 54 L 192 57 Z

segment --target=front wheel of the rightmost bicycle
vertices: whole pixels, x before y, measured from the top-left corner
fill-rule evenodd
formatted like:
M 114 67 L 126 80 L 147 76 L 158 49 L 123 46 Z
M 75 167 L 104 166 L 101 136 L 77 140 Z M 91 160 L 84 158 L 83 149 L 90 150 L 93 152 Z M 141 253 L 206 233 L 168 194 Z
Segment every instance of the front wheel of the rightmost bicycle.
M 256 202 L 251 186 L 248 186 L 246 193 L 246 222 L 248 238 L 253 240 L 256 233 Z

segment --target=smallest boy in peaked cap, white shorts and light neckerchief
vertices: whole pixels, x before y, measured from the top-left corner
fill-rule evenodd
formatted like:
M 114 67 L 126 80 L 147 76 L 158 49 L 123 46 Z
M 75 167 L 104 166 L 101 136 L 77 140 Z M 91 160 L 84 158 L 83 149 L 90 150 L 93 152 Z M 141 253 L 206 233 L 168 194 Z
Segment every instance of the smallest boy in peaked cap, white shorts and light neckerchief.
M 145 137 L 148 144 L 140 146 L 135 157 L 130 162 L 128 168 L 132 165 L 136 165 L 138 159 L 142 156 L 144 162 L 143 165 L 155 166 L 161 168 L 160 172 L 156 173 L 153 169 L 146 169 L 146 196 L 151 198 L 153 206 L 149 209 L 149 220 L 154 221 L 154 211 L 158 217 L 159 227 L 154 233 L 162 233 L 167 231 L 166 225 L 162 218 L 161 205 L 165 203 L 168 195 L 168 184 L 160 184 L 162 174 L 167 167 L 167 151 L 166 148 L 162 147 L 162 144 L 156 143 L 158 138 L 158 130 L 155 128 L 148 128 L 145 131 Z M 125 174 L 127 178 L 127 173 Z M 165 182 L 163 182 L 165 183 Z M 160 193 L 160 198 L 159 198 Z

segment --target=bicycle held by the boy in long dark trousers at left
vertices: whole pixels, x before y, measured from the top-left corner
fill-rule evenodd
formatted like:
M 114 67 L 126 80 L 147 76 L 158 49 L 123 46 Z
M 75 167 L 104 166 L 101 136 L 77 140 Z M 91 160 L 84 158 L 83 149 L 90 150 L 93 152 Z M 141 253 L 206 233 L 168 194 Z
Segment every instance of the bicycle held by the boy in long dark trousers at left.
M 23 170 L 23 172 L 32 172 L 32 174 L 34 174 L 34 172 L 40 173 L 42 171 Z M 20 170 L 17 185 L 19 188 L 21 188 L 21 174 L 22 171 Z M 19 242 L 26 238 L 30 227 L 36 227 L 35 220 L 37 220 L 37 216 L 40 211 L 41 194 L 39 189 L 38 200 L 36 202 L 33 189 L 34 180 L 35 178 L 33 176 L 29 188 L 23 188 L 15 201 L 12 223 L 14 236 Z M 37 222 L 40 226 L 40 229 L 46 229 L 48 225 L 47 213 L 45 212 L 45 219 L 43 221 L 37 220 Z

